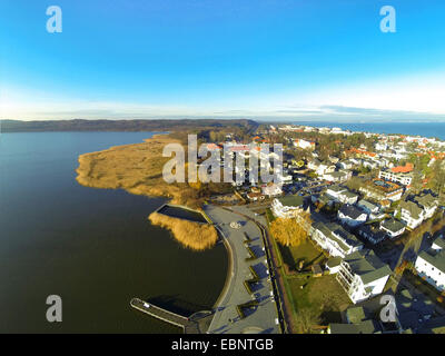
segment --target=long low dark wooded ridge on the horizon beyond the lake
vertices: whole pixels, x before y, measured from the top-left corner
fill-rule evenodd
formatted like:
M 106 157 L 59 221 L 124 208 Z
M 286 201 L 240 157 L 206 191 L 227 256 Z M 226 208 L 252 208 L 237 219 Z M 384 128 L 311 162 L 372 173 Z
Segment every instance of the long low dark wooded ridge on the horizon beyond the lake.
M 253 130 L 258 127 L 254 120 L 49 120 L 21 121 L 1 120 L 2 132 L 43 132 L 43 131 L 181 131 L 194 129 L 216 129 L 238 127 Z

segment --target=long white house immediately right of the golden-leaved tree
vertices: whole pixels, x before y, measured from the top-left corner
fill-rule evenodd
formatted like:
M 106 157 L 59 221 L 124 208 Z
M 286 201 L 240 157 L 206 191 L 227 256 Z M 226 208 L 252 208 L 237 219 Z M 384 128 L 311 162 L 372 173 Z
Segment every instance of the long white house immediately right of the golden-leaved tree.
M 363 244 L 353 234 L 335 222 L 313 222 L 309 235 L 333 257 L 345 257 L 363 248 Z

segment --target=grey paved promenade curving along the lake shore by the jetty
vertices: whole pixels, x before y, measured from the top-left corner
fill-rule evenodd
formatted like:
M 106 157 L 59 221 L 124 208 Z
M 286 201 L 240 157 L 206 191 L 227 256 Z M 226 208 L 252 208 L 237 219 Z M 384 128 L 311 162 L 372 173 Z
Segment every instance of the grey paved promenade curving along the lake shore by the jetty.
M 217 301 L 208 333 L 279 333 L 279 325 L 276 323 L 277 308 L 271 297 L 273 287 L 268 281 L 268 267 L 260 230 L 255 222 L 222 208 L 209 205 L 205 207 L 205 211 L 225 236 L 226 246 L 231 255 L 230 283 L 225 287 Z M 231 221 L 240 222 L 241 227 L 239 229 L 231 228 Z M 244 233 L 253 239 L 250 248 L 256 256 L 259 256 L 255 260 L 245 260 L 249 255 L 244 245 Z M 244 286 L 244 280 L 253 277 L 249 266 L 254 267 L 260 279 L 253 287 L 255 297 L 250 296 Z M 259 300 L 259 305 L 255 310 L 248 312 L 244 319 L 240 319 L 236 306 L 254 298 Z

